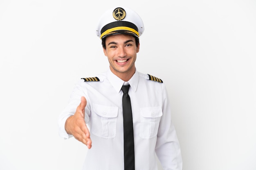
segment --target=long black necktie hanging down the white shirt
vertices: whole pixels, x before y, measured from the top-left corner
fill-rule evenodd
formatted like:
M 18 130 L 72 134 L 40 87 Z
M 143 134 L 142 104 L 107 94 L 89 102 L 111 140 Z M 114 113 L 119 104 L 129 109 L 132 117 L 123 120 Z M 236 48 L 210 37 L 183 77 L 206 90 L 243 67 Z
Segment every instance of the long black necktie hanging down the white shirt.
M 132 124 L 132 107 L 128 95 L 130 85 L 123 85 L 123 115 L 124 115 L 124 170 L 134 170 L 134 141 Z

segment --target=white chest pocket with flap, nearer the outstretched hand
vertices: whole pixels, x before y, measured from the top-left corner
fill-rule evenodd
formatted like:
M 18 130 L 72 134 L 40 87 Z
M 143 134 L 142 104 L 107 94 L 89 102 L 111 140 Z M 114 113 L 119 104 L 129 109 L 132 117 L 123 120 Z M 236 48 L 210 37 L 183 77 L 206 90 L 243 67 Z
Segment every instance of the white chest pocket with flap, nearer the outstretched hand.
M 118 107 L 93 104 L 93 112 L 92 133 L 105 139 L 116 137 Z

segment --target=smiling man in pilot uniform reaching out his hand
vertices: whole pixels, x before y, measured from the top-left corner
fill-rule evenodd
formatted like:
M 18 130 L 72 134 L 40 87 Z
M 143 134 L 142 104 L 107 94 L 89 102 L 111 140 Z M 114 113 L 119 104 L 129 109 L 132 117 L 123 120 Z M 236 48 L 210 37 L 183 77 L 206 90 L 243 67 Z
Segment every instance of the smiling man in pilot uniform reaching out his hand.
M 89 148 L 84 170 L 157 170 L 156 155 L 164 170 L 182 169 L 166 87 L 135 68 L 143 31 L 129 8 L 110 9 L 99 20 L 96 32 L 110 67 L 81 78 L 59 117 L 60 136 Z

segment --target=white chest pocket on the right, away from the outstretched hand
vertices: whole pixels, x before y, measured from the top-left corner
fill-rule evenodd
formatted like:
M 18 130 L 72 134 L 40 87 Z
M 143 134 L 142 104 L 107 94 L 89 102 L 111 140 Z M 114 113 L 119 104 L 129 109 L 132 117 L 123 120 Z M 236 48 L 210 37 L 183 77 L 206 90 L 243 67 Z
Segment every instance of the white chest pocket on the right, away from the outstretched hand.
M 140 137 L 150 139 L 157 135 L 161 116 L 161 107 L 144 107 L 140 109 Z

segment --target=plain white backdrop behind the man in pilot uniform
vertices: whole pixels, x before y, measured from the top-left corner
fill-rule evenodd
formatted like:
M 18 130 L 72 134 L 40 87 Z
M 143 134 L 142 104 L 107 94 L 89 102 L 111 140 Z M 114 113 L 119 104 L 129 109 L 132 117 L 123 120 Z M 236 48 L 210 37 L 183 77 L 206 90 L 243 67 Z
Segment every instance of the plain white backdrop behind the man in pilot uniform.
M 0 170 L 80 170 L 58 136 L 74 83 L 108 68 L 109 7 L 144 20 L 137 70 L 167 86 L 183 170 L 256 170 L 256 1 L 0 0 Z

